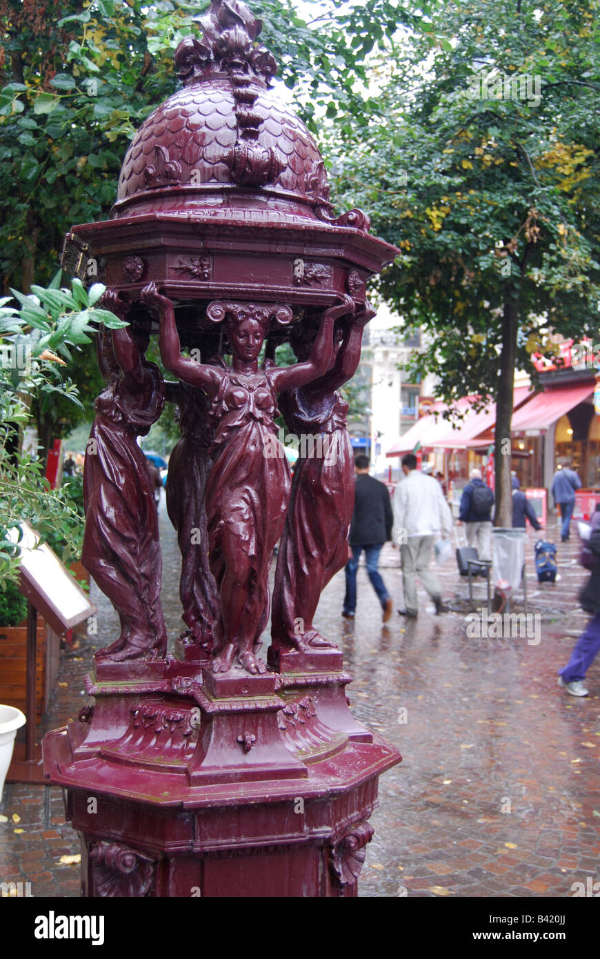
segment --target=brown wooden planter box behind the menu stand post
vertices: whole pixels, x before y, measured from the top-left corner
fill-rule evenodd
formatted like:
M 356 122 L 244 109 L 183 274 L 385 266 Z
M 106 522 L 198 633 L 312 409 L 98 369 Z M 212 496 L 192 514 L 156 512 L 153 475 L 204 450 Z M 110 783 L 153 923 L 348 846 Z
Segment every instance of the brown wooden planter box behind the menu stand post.
M 57 679 L 60 637 L 37 618 L 35 655 L 35 713 L 46 710 Z M 0 626 L 0 703 L 26 713 L 27 622 Z

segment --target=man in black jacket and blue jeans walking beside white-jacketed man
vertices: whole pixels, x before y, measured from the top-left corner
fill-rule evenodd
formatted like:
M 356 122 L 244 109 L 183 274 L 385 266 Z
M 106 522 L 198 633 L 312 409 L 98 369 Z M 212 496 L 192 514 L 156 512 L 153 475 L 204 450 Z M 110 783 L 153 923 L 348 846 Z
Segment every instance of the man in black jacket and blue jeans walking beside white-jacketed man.
M 355 460 L 357 485 L 355 511 L 350 526 L 350 550 L 352 555 L 346 565 L 346 596 L 342 616 L 352 620 L 357 608 L 357 570 L 360 553 L 364 550 L 367 573 L 377 593 L 383 611 L 383 622 L 392 615 L 392 598 L 378 571 L 381 547 L 392 538 L 394 515 L 387 486 L 369 476 L 368 456 Z

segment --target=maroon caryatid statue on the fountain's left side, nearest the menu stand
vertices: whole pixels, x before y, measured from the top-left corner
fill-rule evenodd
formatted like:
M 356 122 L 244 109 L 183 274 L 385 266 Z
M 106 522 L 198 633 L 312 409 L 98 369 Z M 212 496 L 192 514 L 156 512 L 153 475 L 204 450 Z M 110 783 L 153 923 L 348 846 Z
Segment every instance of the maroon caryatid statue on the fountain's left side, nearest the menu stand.
M 127 304 L 115 292 L 104 293 L 103 305 L 121 318 L 127 315 Z M 107 386 L 96 400 L 85 456 L 81 561 L 121 620 L 118 640 L 96 655 L 118 663 L 167 652 L 158 516 L 146 458 L 136 442 L 160 416 L 165 385 L 158 367 L 144 359 L 147 331 L 124 327 L 112 337 L 107 330 L 98 336 Z

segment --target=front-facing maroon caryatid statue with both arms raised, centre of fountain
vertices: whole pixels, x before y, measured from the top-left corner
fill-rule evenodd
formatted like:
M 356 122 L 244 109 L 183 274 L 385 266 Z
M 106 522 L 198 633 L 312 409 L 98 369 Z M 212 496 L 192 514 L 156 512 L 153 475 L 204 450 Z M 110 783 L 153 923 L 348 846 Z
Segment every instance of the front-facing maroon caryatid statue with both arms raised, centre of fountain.
M 268 569 L 286 519 L 289 467 L 275 438 L 277 394 L 322 376 L 331 362 L 334 322 L 353 302 L 327 310 L 305 363 L 259 369 L 258 358 L 271 317 L 291 319 L 288 307 L 212 303 L 207 316 L 223 322 L 231 367 L 196 363 L 181 355 L 173 304 L 149 284 L 144 302 L 161 314 L 160 348 L 165 365 L 185 383 L 204 389 L 211 401 L 213 466 L 206 484 L 209 562 L 219 588 L 220 636 L 213 669 L 240 664 L 265 672 L 257 658 L 269 613 Z M 274 455 L 273 455 L 274 454 Z

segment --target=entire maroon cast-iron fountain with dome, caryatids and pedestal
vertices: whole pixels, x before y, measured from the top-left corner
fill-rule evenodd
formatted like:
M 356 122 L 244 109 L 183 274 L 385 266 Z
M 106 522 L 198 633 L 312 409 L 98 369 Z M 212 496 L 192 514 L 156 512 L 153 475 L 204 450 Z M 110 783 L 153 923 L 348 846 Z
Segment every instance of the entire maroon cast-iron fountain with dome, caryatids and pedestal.
M 83 896 L 356 896 L 379 776 L 401 759 L 353 717 L 342 653 L 312 623 L 354 504 L 339 387 L 374 313 L 366 282 L 397 251 L 359 210 L 335 216 L 312 135 L 270 87 L 261 27 L 213 0 L 175 53 L 181 88 L 133 138 L 110 220 L 74 226 L 65 247 L 81 276 L 93 259 L 128 324 L 98 335 L 84 475 L 83 562 L 121 631 L 85 677 L 93 705 L 44 740 L 81 832 Z M 166 381 L 146 359 L 156 335 Z M 173 652 L 137 442 L 165 403 L 181 430 Z M 280 412 L 312 440 L 293 478 Z

